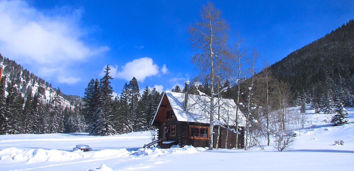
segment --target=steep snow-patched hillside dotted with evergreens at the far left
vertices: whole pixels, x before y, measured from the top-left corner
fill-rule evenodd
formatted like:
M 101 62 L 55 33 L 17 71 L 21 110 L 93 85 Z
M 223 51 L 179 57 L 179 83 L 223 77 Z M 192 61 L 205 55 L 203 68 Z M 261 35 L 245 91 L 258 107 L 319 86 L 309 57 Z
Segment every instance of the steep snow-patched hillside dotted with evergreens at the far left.
M 2 57 L 0 134 L 47 134 L 85 129 L 82 98 L 62 94 L 15 61 Z

